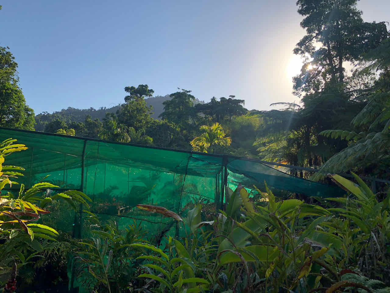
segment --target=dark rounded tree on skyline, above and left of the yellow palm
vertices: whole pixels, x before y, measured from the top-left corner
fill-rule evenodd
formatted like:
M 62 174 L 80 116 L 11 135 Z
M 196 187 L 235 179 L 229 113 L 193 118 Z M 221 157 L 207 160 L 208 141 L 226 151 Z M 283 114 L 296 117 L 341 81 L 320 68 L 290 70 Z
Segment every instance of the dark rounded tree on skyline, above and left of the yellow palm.
M 191 118 L 193 119 L 195 116 L 193 107 L 195 97 L 190 93 L 191 91 L 182 89 L 170 94 L 171 100 L 163 102 L 164 112 L 160 114 L 161 119 L 178 125 L 182 135 L 184 129 L 190 129 Z

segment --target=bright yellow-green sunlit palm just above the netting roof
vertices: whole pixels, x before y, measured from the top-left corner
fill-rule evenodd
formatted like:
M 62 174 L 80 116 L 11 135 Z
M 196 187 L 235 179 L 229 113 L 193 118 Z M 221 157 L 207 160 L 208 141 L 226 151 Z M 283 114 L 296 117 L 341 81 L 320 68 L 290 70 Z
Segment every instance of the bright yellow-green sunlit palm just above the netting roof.
M 194 152 L 207 153 L 209 147 L 211 147 L 211 152 L 213 152 L 214 145 L 228 147 L 230 143 L 232 143 L 232 139 L 230 137 L 226 137 L 226 134 L 222 129 L 222 125 L 218 122 L 211 126 L 202 125 L 200 130 L 202 130 L 203 133 L 200 134 L 200 136 L 195 137 L 190 142 Z

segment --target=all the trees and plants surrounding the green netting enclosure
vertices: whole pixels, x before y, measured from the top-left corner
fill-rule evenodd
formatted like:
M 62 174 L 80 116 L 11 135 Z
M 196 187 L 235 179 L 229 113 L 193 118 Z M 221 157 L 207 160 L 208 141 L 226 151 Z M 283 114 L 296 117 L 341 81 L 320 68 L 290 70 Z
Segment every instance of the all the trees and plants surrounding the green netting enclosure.
M 0 144 L 2 291 L 49 292 L 80 282 L 92 292 L 110 293 L 390 292 L 390 190 L 384 183 L 373 192 L 361 179 L 390 180 L 390 33 L 384 22 L 364 22 L 356 4 L 298 0 L 306 31 L 294 48 L 304 61 L 293 78 L 300 103 L 273 104 L 280 109 L 271 111 L 248 111 L 234 95 L 200 102 L 180 88 L 152 96 L 140 84 L 126 86 L 124 103 L 115 107 L 69 107 L 34 120 L 18 64 L 9 48 L 0 47 L 1 127 L 310 167 L 318 172 L 291 174 L 333 181 L 346 192 L 302 201 L 294 194 L 278 198 L 268 187 L 253 186 L 256 192 L 248 194 L 239 185 L 226 188 L 219 211 L 215 203 L 196 200 L 178 214 L 137 205 L 143 216 L 168 217 L 158 231 L 146 231 L 139 222 L 121 225 L 115 217 L 154 188 L 150 180 L 138 180 L 142 186 L 133 186 L 120 203 L 94 201 L 91 213 L 92 200 L 80 191 L 56 190 L 63 184 L 18 185 L 24 169 L 4 163 L 27 147 L 7 139 Z M 128 189 L 129 173 L 118 179 Z M 349 173 L 353 181 L 335 173 Z M 184 184 L 176 183 L 186 175 L 174 177 L 170 190 L 182 193 Z M 104 193 L 117 188 L 103 186 Z M 201 186 L 193 190 L 202 197 Z M 61 222 L 73 224 L 73 231 L 60 229 Z

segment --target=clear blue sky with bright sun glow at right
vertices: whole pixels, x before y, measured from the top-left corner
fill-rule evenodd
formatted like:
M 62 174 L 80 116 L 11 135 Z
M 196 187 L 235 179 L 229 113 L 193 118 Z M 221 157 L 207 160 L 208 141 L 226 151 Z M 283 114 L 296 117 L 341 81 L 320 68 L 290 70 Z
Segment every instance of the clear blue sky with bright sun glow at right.
M 293 49 L 305 31 L 295 2 L 0 0 L 0 46 L 15 56 L 35 114 L 112 107 L 138 84 L 269 110 L 299 102 Z M 389 0 L 358 3 L 365 21 L 390 21 Z

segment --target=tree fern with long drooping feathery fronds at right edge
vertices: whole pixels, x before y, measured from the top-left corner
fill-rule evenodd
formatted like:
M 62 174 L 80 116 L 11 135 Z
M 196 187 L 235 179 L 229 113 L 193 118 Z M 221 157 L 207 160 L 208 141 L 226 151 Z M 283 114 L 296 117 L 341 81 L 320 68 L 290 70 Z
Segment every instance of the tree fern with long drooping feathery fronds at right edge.
M 369 88 L 368 103 L 351 121 L 355 131 L 326 130 L 320 134 L 341 138 L 349 145 L 333 155 L 312 178 L 322 179 L 328 173 L 366 169 L 376 176 L 388 178 L 390 165 L 390 38 L 366 54 L 360 73 L 379 72 Z

